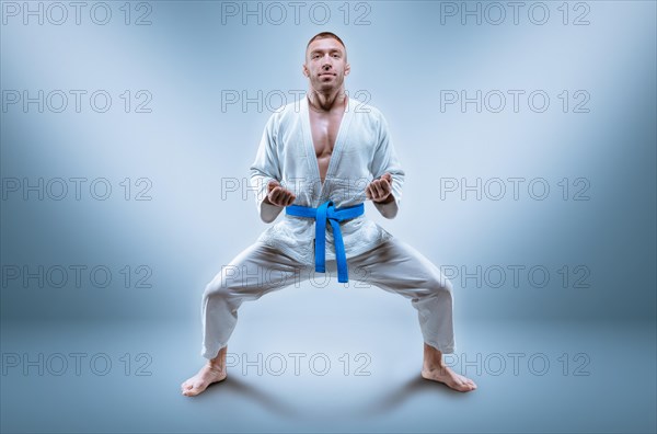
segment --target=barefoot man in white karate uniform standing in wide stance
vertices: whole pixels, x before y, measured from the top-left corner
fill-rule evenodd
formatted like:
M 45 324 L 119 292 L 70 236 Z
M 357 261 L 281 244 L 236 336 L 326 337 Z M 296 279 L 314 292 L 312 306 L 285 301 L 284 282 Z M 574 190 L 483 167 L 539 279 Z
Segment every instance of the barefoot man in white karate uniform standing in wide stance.
M 476 389 L 442 362 L 456 346 L 450 282 L 362 214 L 371 199 L 381 215 L 395 217 L 404 171 L 381 113 L 345 94 L 348 73 L 338 36 L 322 32 L 310 39 L 303 65 L 309 92 L 270 116 L 251 167 L 263 221 L 274 221 L 284 208 L 286 215 L 207 285 L 201 355 L 208 363 L 182 384 L 183 395 L 226 378 L 228 339 L 243 301 L 309 279 L 313 271 L 335 270 L 338 282 L 353 277 L 411 299 L 425 341 L 422 376 L 459 391 Z M 254 282 L 257 270 L 276 274 L 260 273 Z

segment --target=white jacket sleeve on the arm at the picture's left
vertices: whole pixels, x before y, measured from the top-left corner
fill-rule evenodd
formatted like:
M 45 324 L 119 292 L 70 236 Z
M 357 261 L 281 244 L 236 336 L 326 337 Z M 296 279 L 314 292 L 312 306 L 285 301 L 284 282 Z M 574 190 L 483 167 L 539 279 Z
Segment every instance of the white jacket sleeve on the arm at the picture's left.
M 278 163 L 277 133 L 278 124 L 275 114 L 269 117 L 265 125 L 265 130 L 255 155 L 255 161 L 250 167 L 251 178 L 250 186 L 255 191 L 255 205 L 264 222 L 272 222 L 276 219 L 283 207 L 265 204 L 263 201 L 267 197 L 267 184 L 272 180 L 280 182 L 280 165 Z

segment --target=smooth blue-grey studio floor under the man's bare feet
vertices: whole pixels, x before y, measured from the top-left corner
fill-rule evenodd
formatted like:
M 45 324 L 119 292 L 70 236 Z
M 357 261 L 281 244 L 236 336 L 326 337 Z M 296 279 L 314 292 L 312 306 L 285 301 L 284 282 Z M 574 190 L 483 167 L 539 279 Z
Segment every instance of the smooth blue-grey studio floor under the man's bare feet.
M 412 316 L 243 317 L 229 378 L 193 399 L 196 323 L 3 323 L 2 432 L 656 430 L 654 322 L 459 324 L 447 361 L 479 384 L 459 393 L 419 377 Z

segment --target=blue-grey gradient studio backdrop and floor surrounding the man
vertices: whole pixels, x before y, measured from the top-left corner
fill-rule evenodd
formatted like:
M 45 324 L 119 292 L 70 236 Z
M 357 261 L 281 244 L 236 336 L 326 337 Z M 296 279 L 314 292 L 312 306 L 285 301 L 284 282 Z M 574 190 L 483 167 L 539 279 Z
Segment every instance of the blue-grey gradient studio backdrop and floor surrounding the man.
M 656 430 L 655 2 L 585 2 L 589 25 L 572 25 L 573 9 L 564 25 L 562 2 L 543 2 L 551 12 L 544 25 L 529 22 L 527 8 L 518 25 L 510 16 L 499 25 L 472 18 L 462 25 L 459 16 L 442 25 L 440 2 L 429 1 L 361 2 L 368 25 L 353 23 L 365 11 L 358 2 L 346 25 L 344 2 L 325 2 L 326 25 L 309 20 L 312 2 L 299 24 L 288 15 L 281 25 L 254 18 L 243 25 L 240 16 L 222 24 L 221 2 L 152 1 L 151 25 L 125 25 L 123 2 L 107 3 L 107 25 L 83 14 L 81 25 L 71 16 L 64 25 L 24 25 L 19 16 L 1 27 L 3 91 L 103 89 L 114 99 L 107 113 L 10 106 L 1 113 L 2 178 L 106 178 L 115 189 L 107 201 L 10 194 L 1 202 L 3 270 L 83 264 L 113 272 L 106 288 L 3 284 L 2 353 L 105 352 L 114 362 L 148 353 L 152 375 L 126 376 L 123 365 L 108 376 L 9 369 L 0 377 L 3 432 Z M 407 300 L 376 287 L 345 289 L 334 278 L 244 305 L 229 351 L 323 352 L 334 361 L 367 353 L 371 376 L 238 368 L 197 399 L 178 395 L 204 362 L 205 284 L 266 228 L 252 193 L 222 197 L 221 187 L 247 178 L 272 111 L 222 111 L 222 91 L 281 91 L 291 102 L 290 90 L 307 89 L 306 44 L 321 31 L 345 41 L 346 88 L 383 112 L 407 173 L 395 219 L 370 204 L 366 212 L 442 266 L 551 273 L 542 288 L 526 273 L 518 287 L 510 272 L 499 288 L 453 278 L 457 353 L 544 353 L 554 363 L 585 353 L 589 376 L 562 375 L 554 365 L 548 376 L 469 372 L 480 388 L 468 395 L 427 386 L 416 378 L 422 338 Z M 152 113 L 125 113 L 118 95 L 127 89 L 150 92 Z M 534 113 L 521 99 L 519 113 L 509 100 L 502 113 L 476 113 L 472 104 L 465 113 L 440 111 L 441 90 L 509 89 L 544 90 L 551 105 Z M 590 112 L 564 113 L 563 90 L 586 90 Z M 152 199 L 125 201 L 125 178 L 148 178 Z M 441 199 L 441 178 L 543 178 L 551 194 Z M 564 178 L 588 180 L 590 199 L 564 201 Z M 152 287 L 124 287 L 118 271 L 126 265 L 147 265 Z M 564 288 L 564 265 L 588 267 L 589 287 Z

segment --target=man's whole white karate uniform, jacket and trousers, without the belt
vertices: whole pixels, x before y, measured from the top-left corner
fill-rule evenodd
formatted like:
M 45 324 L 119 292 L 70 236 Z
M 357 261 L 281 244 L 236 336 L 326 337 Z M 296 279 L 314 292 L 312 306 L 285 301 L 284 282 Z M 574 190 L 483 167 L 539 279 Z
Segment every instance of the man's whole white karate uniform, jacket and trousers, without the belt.
M 323 184 L 312 144 L 308 100 L 286 105 L 272 115 L 251 165 L 251 187 L 257 192 L 257 209 L 264 221 L 275 220 L 281 212 L 284 216 L 258 237 L 264 244 L 251 244 L 206 286 L 201 304 L 204 357 L 215 358 L 228 345 L 243 301 L 281 289 L 293 279 L 312 278 L 312 270 L 316 270 L 314 219 L 287 215 L 283 207 L 263 204 L 267 183 L 275 179 L 291 190 L 297 195 L 296 205 L 316 208 L 333 201 L 341 208 L 362 203 L 365 187 L 385 172 L 392 175 L 394 201 L 374 206 L 387 218 L 393 218 L 402 197 L 404 171 L 385 119 L 377 108 L 348 100 Z M 410 299 L 417 309 L 424 341 L 442 353 L 453 353 L 452 286 L 440 269 L 367 214 L 341 221 L 339 226 L 346 256 L 351 259 L 349 267 L 358 270 L 354 277 L 367 276 L 369 284 Z M 370 250 L 374 250 L 371 255 L 357 256 Z M 334 259 L 333 233 L 331 225 L 326 225 L 326 260 Z M 335 265 L 326 263 L 326 272 L 331 267 L 334 273 Z M 253 278 L 253 270 L 272 266 L 278 271 L 276 278 Z

